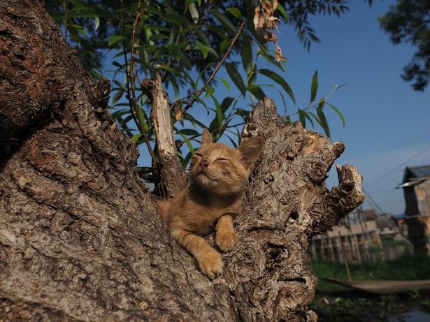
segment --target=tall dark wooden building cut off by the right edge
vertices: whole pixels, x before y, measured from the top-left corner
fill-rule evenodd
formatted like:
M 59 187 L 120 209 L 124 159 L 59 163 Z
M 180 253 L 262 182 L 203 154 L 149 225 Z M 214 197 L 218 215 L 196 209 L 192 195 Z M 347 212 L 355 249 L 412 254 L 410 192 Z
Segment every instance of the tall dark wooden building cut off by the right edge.
M 406 167 L 403 182 L 408 236 L 416 253 L 430 256 L 430 165 Z

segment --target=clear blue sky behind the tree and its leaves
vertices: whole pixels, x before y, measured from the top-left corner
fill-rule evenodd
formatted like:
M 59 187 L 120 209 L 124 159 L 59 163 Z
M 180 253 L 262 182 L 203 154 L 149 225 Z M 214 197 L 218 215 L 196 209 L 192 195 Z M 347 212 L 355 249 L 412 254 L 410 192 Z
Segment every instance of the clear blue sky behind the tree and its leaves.
M 378 16 L 386 13 L 396 1 L 374 1 L 370 8 L 364 1 L 349 2 L 350 11 L 341 17 L 310 19 L 311 27 L 321 39 L 321 43 L 311 45 L 310 52 L 299 43 L 292 29 L 281 24 L 278 38 L 287 63 L 285 73 L 280 75 L 292 87 L 300 108 L 308 105 L 310 81 L 315 70 L 319 81 L 317 98 L 327 96 L 334 84 L 347 83 L 329 99 L 343 113 L 345 129 L 338 116 L 327 111 L 332 139 L 343 140 L 346 145 L 337 163 L 357 166 L 364 177 L 364 188 L 382 210 L 399 214 L 405 208 L 403 191 L 394 188 L 401 182 L 405 166 L 430 163 L 429 89 L 424 93 L 414 92 L 401 79 L 403 66 L 415 49 L 410 45 L 392 45 L 388 35 L 380 29 Z M 261 64 L 259 68 L 266 66 Z M 223 70 L 219 76 L 229 79 Z M 258 82 L 268 84 L 271 81 L 263 77 Z M 220 82 L 216 94 L 236 96 L 237 89 L 233 84 L 231 87 L 231 92 L 227 93 Z M 264 90 L 283 113 L 278 92 L 267 87 Z M 174 99 L 171 93 L 169 96 Z M 286 101 L 287 111 L 294 112 L 294 103 L 289 98 Z M 210 99 L 207 103 L 210 105 Z M 206 117 L 206 112 L 197 104 L 189 112 L 201 115 L 203 122 L 205 118 L 210 122 L 211 117 Z M 148 165 L 148 155 L 143 145 L 141 147 L 138 165 Z M 427 150 L 416 156 L 424 149 Z M 413 156 L 416 157 L 411 159 Z M 333 169 L 327 184 L 337 184 Z M 364 208 L 368 207 L 370 205 L 365 202 Z

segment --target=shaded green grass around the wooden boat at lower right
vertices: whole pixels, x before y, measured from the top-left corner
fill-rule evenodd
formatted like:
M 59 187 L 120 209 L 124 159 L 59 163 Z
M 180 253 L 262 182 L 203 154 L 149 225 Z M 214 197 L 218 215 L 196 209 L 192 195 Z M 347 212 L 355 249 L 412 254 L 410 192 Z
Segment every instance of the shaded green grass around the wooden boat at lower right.
M 369 295 L 350 288 L 321 281 L 323 277 L 347 279 L 342 263 L 313 262 L 312 268 L 320 279 L 310 309 L 317 312 L 318 321 L 387 321 L 413 309 L 430 312 L 430 298 L 424 293 L 403 295 Z M 430 279 L 430 258 L 405 256 L 396 261 L 350 264 L 352 279 Z

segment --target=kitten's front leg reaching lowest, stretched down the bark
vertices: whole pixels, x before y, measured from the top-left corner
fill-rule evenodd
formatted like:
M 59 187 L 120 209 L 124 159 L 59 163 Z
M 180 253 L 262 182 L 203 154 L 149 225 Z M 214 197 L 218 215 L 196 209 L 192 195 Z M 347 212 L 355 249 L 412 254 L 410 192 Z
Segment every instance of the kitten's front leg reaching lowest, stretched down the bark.
M 204 238 L 180 228 L 175 228 L 171 234 L 182 247 L 196 258 L 203 274 L 210 279 L 222 274 L 221 256 L 210 247 Z

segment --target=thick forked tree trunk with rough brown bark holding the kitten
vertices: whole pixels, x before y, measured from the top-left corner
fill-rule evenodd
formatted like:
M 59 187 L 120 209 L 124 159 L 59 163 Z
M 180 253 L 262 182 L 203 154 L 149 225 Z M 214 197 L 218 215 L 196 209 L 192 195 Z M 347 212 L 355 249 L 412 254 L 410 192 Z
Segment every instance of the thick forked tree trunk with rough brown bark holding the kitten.
M 43 1 L 0 2 L 0 317 L 6 321 L 315 321 L 308 240 L 363 200 L 343 151 L 260 101 L 264 138 L 237 246 L 210 281 L 136 175 L 137 149 Z M 209 237 L 210 238 L 210 237 Z

